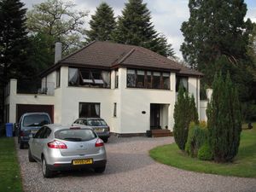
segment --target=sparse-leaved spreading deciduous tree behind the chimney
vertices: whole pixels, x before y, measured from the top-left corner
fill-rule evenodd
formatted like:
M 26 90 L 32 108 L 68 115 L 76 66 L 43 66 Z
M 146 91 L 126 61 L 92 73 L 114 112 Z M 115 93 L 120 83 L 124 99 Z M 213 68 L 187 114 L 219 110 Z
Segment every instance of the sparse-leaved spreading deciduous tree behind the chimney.
M 33 35 L 48 35 L 54 42 L 63 44 L 63 52 L 69 53 L 83 45 L 84 18 L 87 12 L 75 10 L 76 5 L 62 0 L 47 0 L 33 5 L 27 12 L 27 27 Z M 48 38 L 49 39 L 49 38 Z M 53 50 L 53 49 L 52 49 Z

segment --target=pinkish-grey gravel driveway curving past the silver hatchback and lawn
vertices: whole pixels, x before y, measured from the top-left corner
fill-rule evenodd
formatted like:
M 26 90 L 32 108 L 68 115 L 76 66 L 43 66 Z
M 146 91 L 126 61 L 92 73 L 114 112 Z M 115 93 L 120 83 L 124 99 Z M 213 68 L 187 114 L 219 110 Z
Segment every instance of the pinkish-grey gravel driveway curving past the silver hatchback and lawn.
M 223 177 L 183 171 L 155 162 L 148 150 L 173 143 L 173 137 L 111 137 L 103 174 L 64 172 L 44 178 L 38 163 L 29 163 L 27 149 L 18 149 L 25 191 L 256 191 L 256 178 Z M 18 148 L 18 146 L 17 146 Z

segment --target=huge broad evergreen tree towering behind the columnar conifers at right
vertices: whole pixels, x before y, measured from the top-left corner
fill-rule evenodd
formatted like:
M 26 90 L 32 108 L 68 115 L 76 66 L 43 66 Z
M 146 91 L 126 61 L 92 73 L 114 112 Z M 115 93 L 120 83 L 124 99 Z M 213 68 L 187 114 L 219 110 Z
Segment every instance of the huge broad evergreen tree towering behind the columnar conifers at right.
M 190 67 L 205 73 L 201 87 L 212 85 L 214 73 L 221 71 L 225 75 L 229 71 L 240 101 L 254 100 L 253 75 L 247 70 L 252 64 L 247 55 L 252 23 L 244 20 L 246 3 L 243 0 L 189 0 L 189 11 L 189 20 L 181 27 L 184 36 L 181 50 Z

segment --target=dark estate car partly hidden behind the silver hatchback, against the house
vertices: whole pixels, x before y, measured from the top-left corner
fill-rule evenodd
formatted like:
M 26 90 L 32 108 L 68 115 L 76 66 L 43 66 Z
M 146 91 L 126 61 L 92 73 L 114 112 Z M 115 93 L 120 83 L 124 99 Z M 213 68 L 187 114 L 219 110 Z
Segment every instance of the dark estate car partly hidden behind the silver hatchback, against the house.
M 108 142 L 108 137 L 110 137 L 109 126 L 104 119 L 101 118 L 79 118 L 76 119 L 73 124 L 87 125 L 90 126 L 97 135 L 104 141 Z

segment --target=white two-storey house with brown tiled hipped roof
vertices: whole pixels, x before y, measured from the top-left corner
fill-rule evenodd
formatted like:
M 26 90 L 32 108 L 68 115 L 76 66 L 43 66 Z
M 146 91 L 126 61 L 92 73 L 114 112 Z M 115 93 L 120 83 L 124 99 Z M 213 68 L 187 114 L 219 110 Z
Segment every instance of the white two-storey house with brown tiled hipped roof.
M 172 131 L 179 84 L 195 96 L 201 113 L 202 73 L 148 49 L 95 41 L 63 59 L 60 54 L 55 58 L 60 61 L 42 73 L 42 89 L 37 94 L 17 93 L 17 80 L 10 80 L 7 122 L 17 122 L 26 111 L 46 110 L 62 125 L 79 117 L 99 116 L 111 132 L 121 135 L 155 128 Z M 200 117 L 205 119 L 205 115 Z

